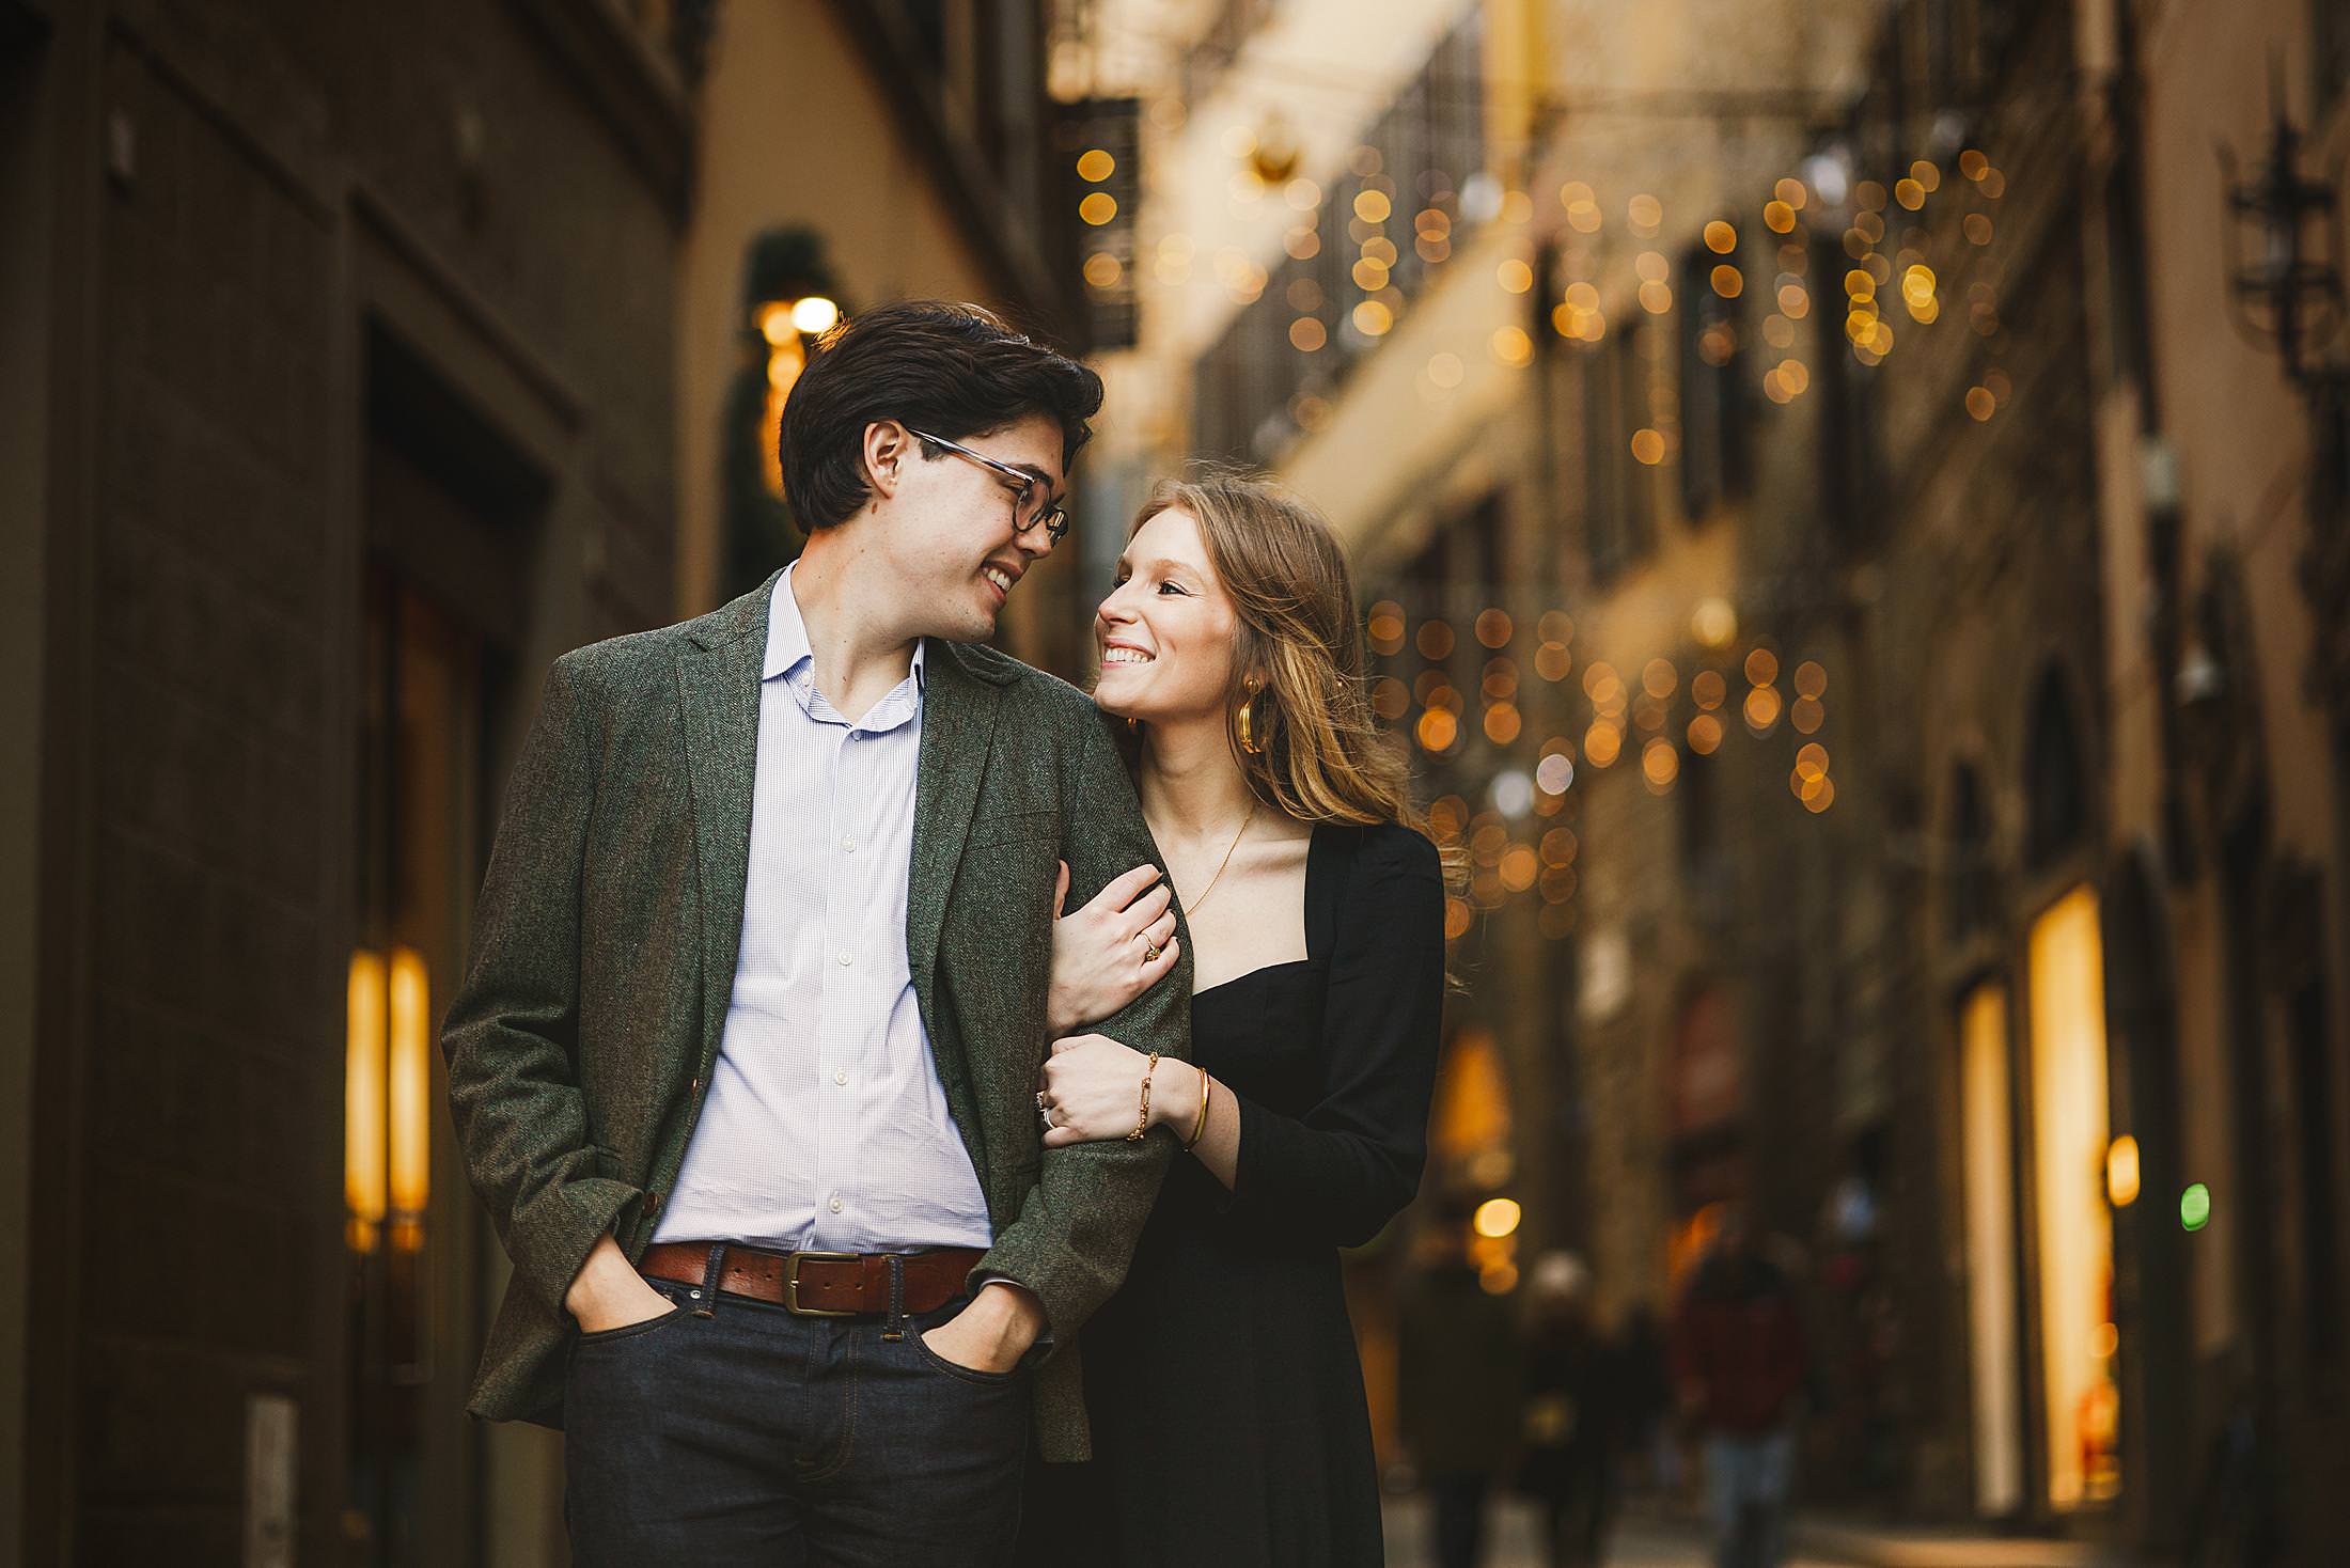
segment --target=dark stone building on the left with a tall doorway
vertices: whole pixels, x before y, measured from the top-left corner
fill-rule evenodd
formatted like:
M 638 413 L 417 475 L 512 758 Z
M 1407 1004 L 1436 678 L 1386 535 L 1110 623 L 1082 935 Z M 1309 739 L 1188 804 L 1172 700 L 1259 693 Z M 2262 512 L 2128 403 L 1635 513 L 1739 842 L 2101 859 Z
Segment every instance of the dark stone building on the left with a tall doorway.
M 921 209 L 858 296 L 1069 322 L 1072 221 L 971 193 L 1043 169 L 1043 7 L 766 9 Z M 559 1441 L 461 1415 L 505 1260 L 435 1020 L 540 672 L 714 588 L 684 259 L 848 200 L 740 73 L 705 134 L 747 12 L 0 5 L 7 1561 L 564 1559 Z

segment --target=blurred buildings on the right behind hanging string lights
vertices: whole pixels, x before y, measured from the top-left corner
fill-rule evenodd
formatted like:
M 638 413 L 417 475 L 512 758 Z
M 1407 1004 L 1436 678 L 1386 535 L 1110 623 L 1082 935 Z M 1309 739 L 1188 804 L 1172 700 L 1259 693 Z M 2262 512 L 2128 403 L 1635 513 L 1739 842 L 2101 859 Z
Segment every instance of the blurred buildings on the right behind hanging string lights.
M 2211 143 L 2256 181 L 2280 80 L 2322 179 L 2338 7 L 1497 0 L 1283 143 L 1318 16 L 1187 106 L 1144 353 L 1356 550 L 1471 863 L 1448 1081 L 1506 1105 L 1441 1103 L 1431 1180 L 1523 1206 L 1495 1288 L 1567 1244 L 1661 1307 L 1739 1199 L 1802 1258 L 1814 1497 L 2162 1552 L 2251 1490 L 2230 1420 L 2317 1474 L 2341 343 L 2294 386 L 2228 329 Z

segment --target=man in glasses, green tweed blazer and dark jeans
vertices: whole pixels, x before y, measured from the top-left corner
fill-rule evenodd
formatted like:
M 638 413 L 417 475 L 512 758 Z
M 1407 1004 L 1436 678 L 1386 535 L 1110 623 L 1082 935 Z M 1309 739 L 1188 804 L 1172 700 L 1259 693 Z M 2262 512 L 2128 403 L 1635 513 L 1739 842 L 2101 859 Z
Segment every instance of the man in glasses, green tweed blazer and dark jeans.
M 548 677 L 442 1044 L 515 1260 L 470 1408 L 564 1427 L 583 1566 L 994 1563 L 1032 1418 L 1086 1453 L 1168 1150 L 1041 1150 L 1055 875 L 1156 851 L 1093 705 L 975 644 L 1100 395 L 982 310 L 846 322 L 799 562 Z M 1104 1034 L 1187 1053 L 1180 954 Z

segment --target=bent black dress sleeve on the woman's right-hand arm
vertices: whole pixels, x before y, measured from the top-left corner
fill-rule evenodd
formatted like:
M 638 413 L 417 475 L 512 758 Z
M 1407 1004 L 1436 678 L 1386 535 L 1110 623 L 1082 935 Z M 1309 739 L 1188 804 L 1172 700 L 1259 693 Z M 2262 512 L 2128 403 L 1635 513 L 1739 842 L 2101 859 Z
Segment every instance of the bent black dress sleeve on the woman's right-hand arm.
M 1234 1095 L 1236 1218 L 1361 1246 L 1412 1201 L 1429 1154 L 1443 990 L 1436 846 L 1408 827 L 1372 827 L 1330 950 L 1321 1098 L 1304 1117 L 1285 1117 Z

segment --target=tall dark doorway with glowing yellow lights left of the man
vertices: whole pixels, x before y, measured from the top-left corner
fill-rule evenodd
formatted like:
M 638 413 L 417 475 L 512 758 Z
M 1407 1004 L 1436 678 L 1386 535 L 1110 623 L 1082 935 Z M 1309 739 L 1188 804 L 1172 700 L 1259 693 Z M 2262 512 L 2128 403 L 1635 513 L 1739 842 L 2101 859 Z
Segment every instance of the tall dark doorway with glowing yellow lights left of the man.
M 345 1032 L 345 1500 L 367 1568 L 489 1556 L 498 1443 L 463 1413 L 501 1284 L 439 1020 L 496 825 L 545 484 L 437 371 L 367 334 Z

